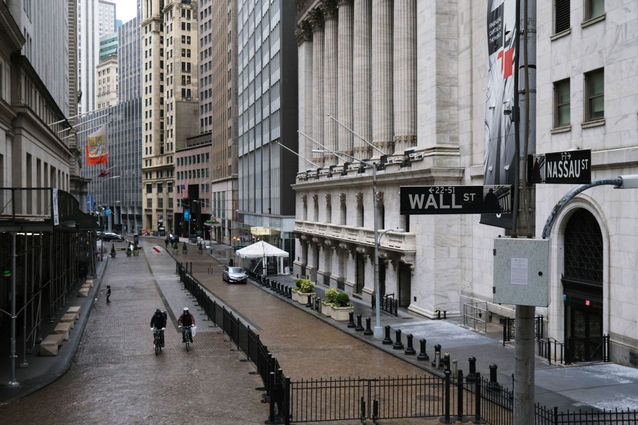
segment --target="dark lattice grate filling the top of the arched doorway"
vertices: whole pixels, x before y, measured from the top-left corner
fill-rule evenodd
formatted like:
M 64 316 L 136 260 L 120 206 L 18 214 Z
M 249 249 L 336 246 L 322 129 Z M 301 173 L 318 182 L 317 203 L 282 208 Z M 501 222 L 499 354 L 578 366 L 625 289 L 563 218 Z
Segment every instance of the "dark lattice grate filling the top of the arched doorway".
M 565 228 L 565 279 L 602 286 L 602 250 L 596 218 L 579 209 Z

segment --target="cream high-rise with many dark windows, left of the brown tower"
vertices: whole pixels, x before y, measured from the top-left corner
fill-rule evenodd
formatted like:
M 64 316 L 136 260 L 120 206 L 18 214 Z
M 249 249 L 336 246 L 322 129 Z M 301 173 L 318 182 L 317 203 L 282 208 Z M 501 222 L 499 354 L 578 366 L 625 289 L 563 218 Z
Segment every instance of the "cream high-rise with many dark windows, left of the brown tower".
M 174 153 L 197 135 L 197 2 L 142 3 L 144 228 L 174 228 Z M 180 190 L 180 188 L 178 188 Z M 170 194 L 170 195 L 169 195 Z

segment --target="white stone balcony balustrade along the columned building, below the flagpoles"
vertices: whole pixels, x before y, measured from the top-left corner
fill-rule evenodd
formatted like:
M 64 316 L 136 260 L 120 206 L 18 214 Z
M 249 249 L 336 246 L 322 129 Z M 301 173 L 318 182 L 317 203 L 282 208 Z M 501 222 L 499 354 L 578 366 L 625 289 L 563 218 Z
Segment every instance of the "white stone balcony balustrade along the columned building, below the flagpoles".
M 385 229 L 380 229 L 379 233 L 383 232 L 383 230 Z M 375 230 L 371 228 L 297 220 L 295 221 L 295 232 L 320 235 L 360 245 L 375 246 Z M 417 249 L 416 235 L 390 231 L 383 235 L 379 247 L 394 251 L 415 251 Z

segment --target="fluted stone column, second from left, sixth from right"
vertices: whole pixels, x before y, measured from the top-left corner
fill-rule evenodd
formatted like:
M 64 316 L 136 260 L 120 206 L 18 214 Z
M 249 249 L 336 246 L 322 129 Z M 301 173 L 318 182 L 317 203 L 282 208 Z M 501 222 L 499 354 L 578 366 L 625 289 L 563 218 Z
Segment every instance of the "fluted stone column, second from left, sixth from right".
M 320 10 L 312 10 L 309 22 L 313 30 L 313 132 L 311 137 L 323 143 L 323 15 Z M 313 144 L 311 140 L 306 143 Z M 318 146 L 312 146 L 318 149 Z M 313 162 L 321 165 L 322 154 L 313 153 Z

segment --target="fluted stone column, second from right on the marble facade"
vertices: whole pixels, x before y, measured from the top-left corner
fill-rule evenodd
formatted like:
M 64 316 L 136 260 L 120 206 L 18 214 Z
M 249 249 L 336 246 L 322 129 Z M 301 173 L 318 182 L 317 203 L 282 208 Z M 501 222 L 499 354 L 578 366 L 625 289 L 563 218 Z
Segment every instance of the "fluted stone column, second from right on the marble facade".
M 392 121 L 392 0 L 372 2 L 372 143 L 394 152 Z M 373 157 L 379 156 L 378 151 Z

